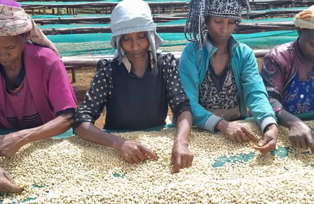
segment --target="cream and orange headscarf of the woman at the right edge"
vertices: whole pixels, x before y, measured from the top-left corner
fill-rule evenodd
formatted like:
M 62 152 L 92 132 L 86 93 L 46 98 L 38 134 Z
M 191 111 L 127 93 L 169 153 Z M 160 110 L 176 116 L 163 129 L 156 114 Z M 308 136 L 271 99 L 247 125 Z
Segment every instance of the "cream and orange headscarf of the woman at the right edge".
M 298 13 L 293 22 L 297 28 L 314 29 L 314 5 Z

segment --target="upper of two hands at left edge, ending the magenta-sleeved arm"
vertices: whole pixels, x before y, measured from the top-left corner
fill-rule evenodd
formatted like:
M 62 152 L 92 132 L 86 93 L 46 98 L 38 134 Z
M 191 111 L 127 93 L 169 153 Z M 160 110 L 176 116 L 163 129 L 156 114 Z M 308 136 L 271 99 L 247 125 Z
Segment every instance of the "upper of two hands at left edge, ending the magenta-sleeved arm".
M 19 131 L 0 137 L 0 156 L 11 158 L 25 144 L 27 131 Z

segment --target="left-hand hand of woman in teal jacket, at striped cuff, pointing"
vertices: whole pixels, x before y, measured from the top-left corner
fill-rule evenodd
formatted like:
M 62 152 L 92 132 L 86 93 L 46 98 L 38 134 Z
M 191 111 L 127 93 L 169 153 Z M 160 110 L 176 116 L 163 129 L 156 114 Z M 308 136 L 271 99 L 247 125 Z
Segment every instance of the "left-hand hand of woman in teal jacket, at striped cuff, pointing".
M 216 128 L 233 142 L 242 143 L 251 139 L 254 142 L 258 142 L 258 138 L 253 134 L 253 132 L 251 132 L 249 129 L 246 128 L 246 126 L 242 124 L 236 124 L 221 120 L 217 124 Z

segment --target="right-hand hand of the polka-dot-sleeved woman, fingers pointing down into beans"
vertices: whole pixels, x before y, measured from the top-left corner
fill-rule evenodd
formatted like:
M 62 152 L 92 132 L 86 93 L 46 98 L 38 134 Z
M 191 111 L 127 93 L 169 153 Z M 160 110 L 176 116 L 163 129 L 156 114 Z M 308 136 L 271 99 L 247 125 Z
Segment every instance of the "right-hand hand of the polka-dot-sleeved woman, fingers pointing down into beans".
M 187 144 L 175 142 L 172 148 L 171 161 L 173 164 L 172 173 L 177 173 L 180 169 L 190 167 L 193 162 L 194 155 L 189 150 Z

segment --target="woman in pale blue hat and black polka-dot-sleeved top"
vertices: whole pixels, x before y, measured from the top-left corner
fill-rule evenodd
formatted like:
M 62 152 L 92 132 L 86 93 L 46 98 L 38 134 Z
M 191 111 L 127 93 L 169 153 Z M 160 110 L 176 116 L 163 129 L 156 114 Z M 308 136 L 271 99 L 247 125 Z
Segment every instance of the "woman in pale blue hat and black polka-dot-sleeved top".
M 100 60 L 82 105 L 73 120 L 80 137 L 115 148 L 122 158 L 138 163 L 156 155 L 141 144 L 104 132 L 94 126 L 106 106 L 107 130 L 143 130 L 165 124 L 168 103 L 178 118 L 172 150 L 173 173 L 192 164 L 188 149 L 192 114 L 181 86 L 173 55 L 156 54 L 163 40 L 156 33 L 148 4 L 124 0 L 111 14 L 112 61 Z

